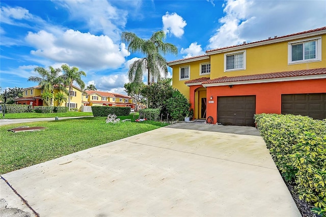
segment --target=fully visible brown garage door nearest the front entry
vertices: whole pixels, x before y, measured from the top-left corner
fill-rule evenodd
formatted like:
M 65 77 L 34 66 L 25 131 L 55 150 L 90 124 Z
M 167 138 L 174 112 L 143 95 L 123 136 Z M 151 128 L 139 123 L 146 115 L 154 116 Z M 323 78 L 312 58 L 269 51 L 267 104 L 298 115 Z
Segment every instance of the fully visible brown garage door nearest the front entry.
M 256 96 L 218 97 L 218 123 L 254 126 Z

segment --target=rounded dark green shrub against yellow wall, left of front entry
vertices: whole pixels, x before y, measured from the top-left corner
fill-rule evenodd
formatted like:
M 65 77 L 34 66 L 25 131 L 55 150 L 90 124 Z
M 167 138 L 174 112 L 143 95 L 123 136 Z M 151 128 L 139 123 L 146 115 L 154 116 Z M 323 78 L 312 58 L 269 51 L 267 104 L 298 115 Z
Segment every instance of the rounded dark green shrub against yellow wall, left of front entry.
M 189 102 L 185 96 L 176 90 L 172 97 L 167 99 L 167 111 L 172 120 L 184 120 L 184 117 L 189 117 Z

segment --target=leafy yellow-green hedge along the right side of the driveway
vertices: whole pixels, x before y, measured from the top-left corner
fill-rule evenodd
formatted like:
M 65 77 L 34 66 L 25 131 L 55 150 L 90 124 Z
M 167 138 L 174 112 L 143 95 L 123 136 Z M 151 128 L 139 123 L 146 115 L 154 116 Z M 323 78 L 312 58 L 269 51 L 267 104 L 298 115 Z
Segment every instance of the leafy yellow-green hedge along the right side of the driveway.
M 276 166 L 299 198 L 326 213 L 326 120 L 295 115 L 255 116 Z

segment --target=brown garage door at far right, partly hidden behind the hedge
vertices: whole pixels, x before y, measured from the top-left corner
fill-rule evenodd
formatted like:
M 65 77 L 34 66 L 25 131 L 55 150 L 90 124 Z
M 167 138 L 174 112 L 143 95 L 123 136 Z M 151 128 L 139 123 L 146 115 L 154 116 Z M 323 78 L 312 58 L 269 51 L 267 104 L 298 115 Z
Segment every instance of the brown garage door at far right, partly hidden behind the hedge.
M 284 94 L 282 95 L 282 114 L 324 119 L 326 118 L 326 93 Z

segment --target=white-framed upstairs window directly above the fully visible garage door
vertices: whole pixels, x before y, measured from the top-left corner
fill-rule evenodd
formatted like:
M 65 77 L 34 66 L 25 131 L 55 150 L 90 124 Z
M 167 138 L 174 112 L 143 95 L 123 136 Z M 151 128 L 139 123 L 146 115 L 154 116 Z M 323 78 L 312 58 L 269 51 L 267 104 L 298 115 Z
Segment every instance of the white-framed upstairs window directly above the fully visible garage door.
M 225 53 L 224 71 L 236 71 L 246 69 L 246 50 Z

